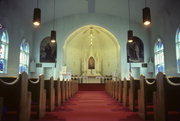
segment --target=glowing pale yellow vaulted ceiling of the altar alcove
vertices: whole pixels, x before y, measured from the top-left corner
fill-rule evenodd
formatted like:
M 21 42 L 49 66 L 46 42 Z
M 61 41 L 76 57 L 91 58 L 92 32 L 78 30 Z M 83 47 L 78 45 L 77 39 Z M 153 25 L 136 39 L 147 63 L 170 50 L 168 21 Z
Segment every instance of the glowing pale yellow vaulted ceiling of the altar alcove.
M 73 32 L 65 41 L 64 48 L 68 45 L 80 50 L 120 48 L 118 40 L 112 33 L 95 25 L 87 25 Z

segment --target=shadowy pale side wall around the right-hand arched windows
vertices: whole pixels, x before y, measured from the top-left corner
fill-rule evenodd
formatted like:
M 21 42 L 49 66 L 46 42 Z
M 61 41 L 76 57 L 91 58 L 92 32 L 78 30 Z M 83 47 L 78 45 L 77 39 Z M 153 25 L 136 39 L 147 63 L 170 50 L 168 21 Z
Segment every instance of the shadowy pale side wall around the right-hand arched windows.
M 179 2 L 167 3 L 168 7 L 159 12 L 159 16 L 153 17 L 151 29 L 151 55 L 154 56 L 154 44 L 158 38 L 164 43 L 165 73 L 168 76 L 180 76 L 177 73 L 175 36 L 180 25 Z

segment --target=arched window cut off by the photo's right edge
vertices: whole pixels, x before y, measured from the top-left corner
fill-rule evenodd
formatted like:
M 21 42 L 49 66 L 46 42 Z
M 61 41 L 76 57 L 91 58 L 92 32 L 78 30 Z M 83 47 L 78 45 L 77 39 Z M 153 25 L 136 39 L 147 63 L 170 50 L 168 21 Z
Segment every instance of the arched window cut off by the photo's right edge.
M 177 60 L 177 72 L 180 73 L 180 27 L 176 33 L 176 60 Z

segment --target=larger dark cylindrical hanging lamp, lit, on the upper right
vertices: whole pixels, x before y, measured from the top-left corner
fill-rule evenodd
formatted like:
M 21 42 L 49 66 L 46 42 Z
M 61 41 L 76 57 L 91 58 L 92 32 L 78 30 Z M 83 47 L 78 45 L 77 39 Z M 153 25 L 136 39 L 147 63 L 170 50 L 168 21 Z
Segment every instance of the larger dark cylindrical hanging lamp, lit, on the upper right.
M 151 24 L 151 11 L 150 8 L 147 7 L 146 0 L 145 0 L 145 8 L 143 8 L 143 23 L 145 26 Z

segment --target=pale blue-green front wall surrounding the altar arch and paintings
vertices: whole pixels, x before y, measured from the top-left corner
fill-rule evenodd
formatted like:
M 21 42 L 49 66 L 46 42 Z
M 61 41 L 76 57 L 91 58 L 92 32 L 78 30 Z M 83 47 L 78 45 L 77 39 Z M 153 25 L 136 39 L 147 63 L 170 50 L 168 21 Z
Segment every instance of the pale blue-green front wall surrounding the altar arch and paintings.
M 60 73 L 62 66 L 62 57 L 63 57 L 63 45 L 67 37 L 76 29 L 85 26 L 85 25 L 98 25 L 101 26 L 112 34 L 119 40 L 120 52 L 121 52 L 121 77 L 128 77 L 128 63 L 126 58 L 126 41 L 127 41 L 127 30 L 128 30 L 128 21 L 123 18 L 116 16 L 110 16 L 105 14 L 78 14 L 66 16 L 59 18 L 55 22 L 55 29 L 57 31 L 57 68 L 56 68 L 56 77 Z M 134 35 L 138 36 L 144 42 L 145 48 L 145 63 L 149 58 L 149 42 L 148 42 L 148 30 L 144 28 L 141 24 L 132 23 L 132 29 L 134 30 Z M 50 35 L 52 29 L 52 23 L 44 23 L 39 29 L 35 30 L 35 43 L 34 43 L 34 57 L 36 62 L 39 63 L 39 45 L 41 40 Z M 52 66 L 49 64 L 49 66 Z M 132 66 L 141 67 L 141 64 L 133 64 Z M 42 73 L 42 71 L 36 71 L 36 75 Z M 141 73 L 146 75 L 146 69 L 141 69 Z

